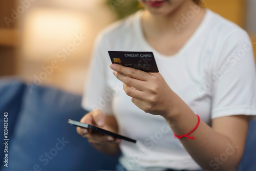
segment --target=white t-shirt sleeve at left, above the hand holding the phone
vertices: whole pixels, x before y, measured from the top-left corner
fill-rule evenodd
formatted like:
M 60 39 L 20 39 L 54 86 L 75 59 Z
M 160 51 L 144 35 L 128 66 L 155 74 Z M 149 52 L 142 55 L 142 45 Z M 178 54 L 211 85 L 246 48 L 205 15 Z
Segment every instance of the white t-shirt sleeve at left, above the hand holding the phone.
M 112 115 L 112 101 L 104 99 L 107 93 L 106 90 L 108 89 L 105 72 L 108 51 L 106 50 L 103 37 L 101 33 L 97 36 L 95 41 L 81 106 L 87 111 L 100 109 L 104 114 Z

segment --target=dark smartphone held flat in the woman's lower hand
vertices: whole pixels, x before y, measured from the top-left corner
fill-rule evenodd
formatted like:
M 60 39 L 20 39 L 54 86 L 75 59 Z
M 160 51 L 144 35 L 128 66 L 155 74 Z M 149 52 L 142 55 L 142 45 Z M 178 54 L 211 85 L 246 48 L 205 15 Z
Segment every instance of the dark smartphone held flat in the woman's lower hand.
M 134 140 L 134 139 L 131 139 L 131 138 L 128 138 L 128 137 L 125 137 L 125 136 L 122 136 L 122 135 L 119 135 L 119 134 L 116 134 L 116 133 L 113 133 L 113 132 L 110 132 L 110 131 L 106 131 L 106 130 L 101 129 L 100 127 L 97 127 L 97 126 L 94 126 L 94 125 L 78 122 L 78 121 L 71 120 L 71 119 L 69 119 L 68 123 L 70 123 L 71 125 L 74 125 L 74 126 L 79 126 L 79 127 L 83 127 L 83 128 L 86 128 L 86 129 L 90 129 L 93 132 L 97 132 L 97 133 L 100 133 L 100 134 L 103 134 L 103 135 L 110 135 L 110 136 L 113 136 L 114 138 L 119 138 L 119 139 L 123 139 L 123 140 L 126 140 L 126 141 L 136 143 L 136 140 Z

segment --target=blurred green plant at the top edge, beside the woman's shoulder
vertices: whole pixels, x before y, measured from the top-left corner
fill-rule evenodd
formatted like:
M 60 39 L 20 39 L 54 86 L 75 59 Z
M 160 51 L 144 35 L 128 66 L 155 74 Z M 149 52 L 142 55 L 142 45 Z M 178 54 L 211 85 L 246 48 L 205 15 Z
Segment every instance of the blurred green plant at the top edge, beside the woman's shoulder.
M 124 18 L 143 8 L 137 0 L 106 0 L 106 3 L 117 15 L 118 19 Z

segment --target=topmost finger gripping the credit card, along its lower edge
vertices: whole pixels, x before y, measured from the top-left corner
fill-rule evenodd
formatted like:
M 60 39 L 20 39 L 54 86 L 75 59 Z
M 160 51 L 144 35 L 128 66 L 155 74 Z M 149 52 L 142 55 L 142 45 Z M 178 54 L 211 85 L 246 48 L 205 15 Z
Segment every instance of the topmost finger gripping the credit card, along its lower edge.
M 140 71 L 130 67 L 124 67 L 118 64 L 111 64 L 110 68 L 118 73 L 127 75 L 132 78 L 136 78 L 142 81 L 146 81 L 150 77 L 150 74 L 147 72 Z

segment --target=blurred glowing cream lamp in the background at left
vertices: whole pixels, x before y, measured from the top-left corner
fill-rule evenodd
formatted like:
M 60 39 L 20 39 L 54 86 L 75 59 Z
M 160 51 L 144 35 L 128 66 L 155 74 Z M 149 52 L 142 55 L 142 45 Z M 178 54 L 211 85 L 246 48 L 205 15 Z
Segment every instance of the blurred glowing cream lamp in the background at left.
M 33 9 L 27 14 L 24 23 L 21 48 L 24 57 L 36 60 L 56 58 L 57 53 L 73 44 L 77 36 L 90 35 L 88 20 L 82 12 Z M 75 48 L 73 46 L 72 56 L 81 56 L 87 50 Z

